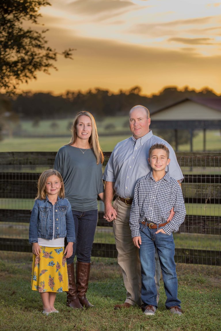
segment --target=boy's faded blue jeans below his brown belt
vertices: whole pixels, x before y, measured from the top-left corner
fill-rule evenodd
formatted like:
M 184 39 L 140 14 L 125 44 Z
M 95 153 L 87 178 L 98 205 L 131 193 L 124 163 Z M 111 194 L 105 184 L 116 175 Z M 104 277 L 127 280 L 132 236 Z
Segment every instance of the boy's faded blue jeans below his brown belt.
M 155 275 L 155 247 L 159 255 L 160 266 L 163 275 L 164 289 L 166 292 L 166 308 L 173 306 L 180 307 L 181 301 L 177 298 L 178 281 L 176 264 L 174 261 L 175 245 L 173 234 L 168 236 L 157 229 L 150 229 L 140 223 L 140 245 L 139 255 L 141 262 L 142 289 L 141 300 L 144 305 L 152 305 L 157 308 L 157 290 L 154 281 Z

